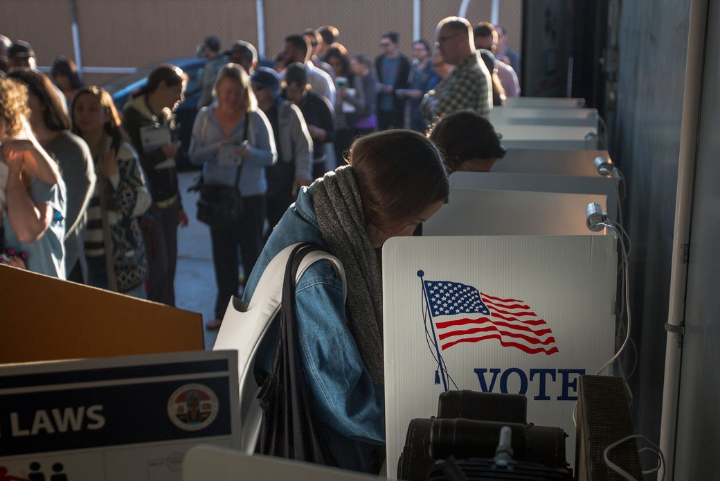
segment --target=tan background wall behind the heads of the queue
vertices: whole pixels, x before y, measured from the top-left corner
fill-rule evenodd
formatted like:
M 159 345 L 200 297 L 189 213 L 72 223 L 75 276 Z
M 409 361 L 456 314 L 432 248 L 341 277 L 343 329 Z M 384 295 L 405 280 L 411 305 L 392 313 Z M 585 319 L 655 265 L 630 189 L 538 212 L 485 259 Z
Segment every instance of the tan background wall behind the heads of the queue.
M 434 40 L 438 20 L 456 15 L 459 0 L 421 2 L 421 35 Z M 59 55 L 73 57 L 69 0 L 3 0 L 0 33 L 32 43 L 39 65 Z M 491 0 L 473 0 L 468 19 L 490 19 Z M 413 42 L 412 0 L 265 0 L 266 54 L 274 57 L 290 33 L 335 25 L 351 53 L 380 53 L 379 36 L 400 33 L 400 48 L 410 55 Z M 137 67 L 167 58 L 194 56 L 206 35 L 258 41 L 253 0 L 77 0 L 83 63 L 86 66 Z M 520 50 L 522 0 L 500 1 L 500 23 L 509 44 Z M 101 82 L 107 76 L 89 76 Z

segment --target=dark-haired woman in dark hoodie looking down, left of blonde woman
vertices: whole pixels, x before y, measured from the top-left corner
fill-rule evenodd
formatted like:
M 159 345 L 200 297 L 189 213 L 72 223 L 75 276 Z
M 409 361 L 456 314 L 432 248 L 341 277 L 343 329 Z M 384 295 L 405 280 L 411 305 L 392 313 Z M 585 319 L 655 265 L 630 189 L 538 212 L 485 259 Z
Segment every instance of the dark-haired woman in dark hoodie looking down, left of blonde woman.
M 169 306 L 175 305 L 178 225 L 188 222 L 178 189 L 175 156 L 180 142 L 174 114 L 184 100 L 186 82 L 187 75 L 178 67 L 157 66 L 123 109 L 122 126 L 138 152 L 153 197 L 153 206 L 140 224 L 148 257 L 148 299 Z

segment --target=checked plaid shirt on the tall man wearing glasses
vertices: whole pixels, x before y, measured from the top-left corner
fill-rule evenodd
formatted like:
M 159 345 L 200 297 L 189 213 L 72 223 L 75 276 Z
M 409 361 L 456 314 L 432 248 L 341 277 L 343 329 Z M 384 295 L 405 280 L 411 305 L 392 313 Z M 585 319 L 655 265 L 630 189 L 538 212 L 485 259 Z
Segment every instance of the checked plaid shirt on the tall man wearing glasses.
M 456 66 L 446 80 L 433 118 L 462 109 L 471 109 L 487 117 L 492 108 L 492 81 L 477 50 Z

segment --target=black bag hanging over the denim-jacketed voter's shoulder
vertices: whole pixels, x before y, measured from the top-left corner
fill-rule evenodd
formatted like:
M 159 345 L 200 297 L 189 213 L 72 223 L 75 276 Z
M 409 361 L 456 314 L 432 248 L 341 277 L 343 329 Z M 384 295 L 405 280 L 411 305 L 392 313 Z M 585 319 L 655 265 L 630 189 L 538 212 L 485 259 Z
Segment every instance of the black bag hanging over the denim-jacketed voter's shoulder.
M 285 265 L 278 342 L 274 362 L 258 402 L 262 409 L 259 454 L 336 466 L 326 431 L 315 415 L 295 331 L 295 282 L 303 258 L 324 249 L 310 242 L 294 247 Z M 343 282 L 344 284 L 344 282 Z

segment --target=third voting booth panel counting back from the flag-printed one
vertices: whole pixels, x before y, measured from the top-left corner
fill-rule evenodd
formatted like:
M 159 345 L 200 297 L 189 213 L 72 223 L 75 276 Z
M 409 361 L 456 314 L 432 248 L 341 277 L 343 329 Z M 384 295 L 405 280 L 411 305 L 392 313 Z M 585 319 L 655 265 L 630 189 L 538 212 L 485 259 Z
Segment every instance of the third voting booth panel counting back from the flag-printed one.
M 521 192 L 554 192 L 567 194 L 600 194 L 606 197 L 607 212 L 617 219 L 618 194 L 615 181 L 609 177 L 575 175 L 499 174 L 495 172 L 454 172 L 451 189 L 519 190 Z M 588 204 L 585 204 L 587 206 Z

